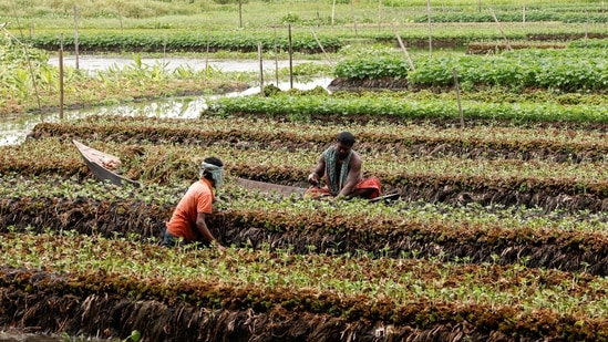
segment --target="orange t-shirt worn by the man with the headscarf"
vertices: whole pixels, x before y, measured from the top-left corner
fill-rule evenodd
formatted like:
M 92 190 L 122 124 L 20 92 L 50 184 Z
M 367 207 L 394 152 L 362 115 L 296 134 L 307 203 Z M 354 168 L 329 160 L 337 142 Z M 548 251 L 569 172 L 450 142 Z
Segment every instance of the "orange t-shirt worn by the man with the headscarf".
M 196 240 L 198 237 L 196 217 L 198 213 L 212 214 L 213 200 L 214 193 L 209 180 L 203 178 L 190 185 L 166 224 L 168 232 L 174 237 L 184 238 L 186 242 Z

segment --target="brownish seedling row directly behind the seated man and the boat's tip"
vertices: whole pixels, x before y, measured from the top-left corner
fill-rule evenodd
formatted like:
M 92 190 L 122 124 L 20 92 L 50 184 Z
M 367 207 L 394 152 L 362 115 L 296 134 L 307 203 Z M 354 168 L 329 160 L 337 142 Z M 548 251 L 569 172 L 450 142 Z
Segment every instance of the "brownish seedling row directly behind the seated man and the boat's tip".
M 253 174 L 257 175 L 257 178 L 298 182 L 306 178 L 310 168 L 316 165 L 318 154 L 322 152 L 320 146 L 317 149 L 287 151 L 278 149 L 277 146 L 271 146 L 269 149 L 249 149 L 218 145 L 125 146 L 121 143 L 107 143 L 94 147 L 122 156 L 126 164 L 124 167 L 126 176 L 148 182 L 158 177 L 188 179 L 189 174 L 182 173 L 188 167 L 196 166 L 197 160 L 204 155 L 218 155 L 225 158 L 234 175 Z M 71 142 L 55 137 L 30 141 L 21 146 L 9 146 L 3 149 L 7 152 L 2 155 L 4 173 L 49 174 L 64 170 L 66 175 L 73 175 L 78 174 L 79 169 L 85 169 L 84 163 Z M 471 190 L 484 188 L 482 179 L 487 182 L 485 187 L 512 184 L 515 185 L 514 189 L 554 187 L 570 194 L 585 191 L 599 196 L 602 196 L 606 190 L 601 180 L 606 178 L 606 170 L 601 162 L 561 165 L 528 160 L 523 164 L 519 160 L 472 160 L 453 156 L 415 158 L 406 155 L 395 159 L 391 151 L 363 152 L 362 157 L 365 160 L 365 173 L 378 174 L 381 179 L 385 179 L 387 184 L 393 186 L 410 182 L 418 183 L 415 180 L 418 176 L 430 176 L 435 182 L 440 178 L 446 180 L 467 178 L 468 180 L 464 180 L 463 185 L 466 187 L 466 184 L 470 184 Z M 166 165 L 158 165 L 159 163 Z M 159 166 L 163 168 L 156 169 Z M 171 172 L 172 168 L 173 172 Z M 266 172 L 262 172 L 264 169 Z M 158 172 L 168 174 L 163 175 Z M 443 176 L 440 177 L 440 175 Z

